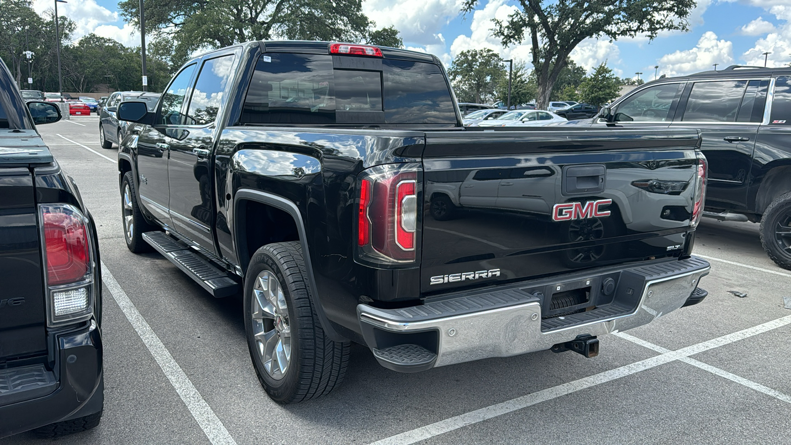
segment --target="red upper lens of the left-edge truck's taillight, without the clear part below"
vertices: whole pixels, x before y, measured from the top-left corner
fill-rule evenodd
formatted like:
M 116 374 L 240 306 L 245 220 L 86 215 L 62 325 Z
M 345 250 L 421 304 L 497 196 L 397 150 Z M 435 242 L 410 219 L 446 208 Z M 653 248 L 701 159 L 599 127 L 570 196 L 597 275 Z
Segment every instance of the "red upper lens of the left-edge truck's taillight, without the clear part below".
M 44 223 L 44 257 L 47 284 L 75 283 L 84 279 L 90 268 L 88 230 L 81 215 L 70 207 L 41 206 Z

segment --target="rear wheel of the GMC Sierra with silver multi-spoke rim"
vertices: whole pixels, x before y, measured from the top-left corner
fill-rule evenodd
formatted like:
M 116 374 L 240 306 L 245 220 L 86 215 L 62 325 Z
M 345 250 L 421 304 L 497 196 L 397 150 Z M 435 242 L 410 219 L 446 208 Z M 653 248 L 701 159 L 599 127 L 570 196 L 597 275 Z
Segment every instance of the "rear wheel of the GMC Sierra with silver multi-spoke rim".
M 255 374 L 274 401 L 321 397 L 343 381 L 350 344 L 324 334 L 299 242 L 264 245 L 253 255 L 244 277 L 244 329 Z

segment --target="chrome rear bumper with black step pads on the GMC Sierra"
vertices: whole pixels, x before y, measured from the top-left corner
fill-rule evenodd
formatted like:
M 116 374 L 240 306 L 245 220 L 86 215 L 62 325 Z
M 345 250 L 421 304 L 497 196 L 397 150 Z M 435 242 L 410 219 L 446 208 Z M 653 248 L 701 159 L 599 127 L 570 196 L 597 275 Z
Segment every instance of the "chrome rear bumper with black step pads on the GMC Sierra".
M 382 310 L 358 305 L 366 343 L 384 367 L 424 371 L 490 357 L 542 351 L 580 336 L 600 336 L 645 325 L 685 306 L 710 265 L 701 258 L 621 268 L 612 302 L 566 317 L 546 317 L 536 288 L 600 283 L 613 269 L 518 283 L 421 306 Z M 599 281 L 596 281 L 599 280 Z M 698 300 L 699 301 L 699 300 Z M 694 304 L 694 303 L 693 303 Z M 544 314 L 544 318 L 542 317 Z

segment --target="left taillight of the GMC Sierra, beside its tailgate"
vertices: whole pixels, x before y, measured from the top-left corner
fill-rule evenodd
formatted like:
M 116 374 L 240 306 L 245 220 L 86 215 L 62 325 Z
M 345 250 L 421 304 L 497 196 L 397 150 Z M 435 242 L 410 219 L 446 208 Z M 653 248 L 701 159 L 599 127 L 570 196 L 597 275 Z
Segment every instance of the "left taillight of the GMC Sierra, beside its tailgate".
M 379 165 L 358 181 L 357 259 L 414 267 L 418 247 L 419 164 Z

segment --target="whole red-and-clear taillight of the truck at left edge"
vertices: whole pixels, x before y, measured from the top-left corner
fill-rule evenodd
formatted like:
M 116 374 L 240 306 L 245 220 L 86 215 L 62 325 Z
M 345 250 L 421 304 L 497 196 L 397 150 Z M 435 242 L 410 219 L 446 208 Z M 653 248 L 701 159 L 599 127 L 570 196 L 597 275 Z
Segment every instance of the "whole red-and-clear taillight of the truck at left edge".
M 93 314 L 93 260 L 88 219 L 69 204 L 40 205 L 50 325 Z

